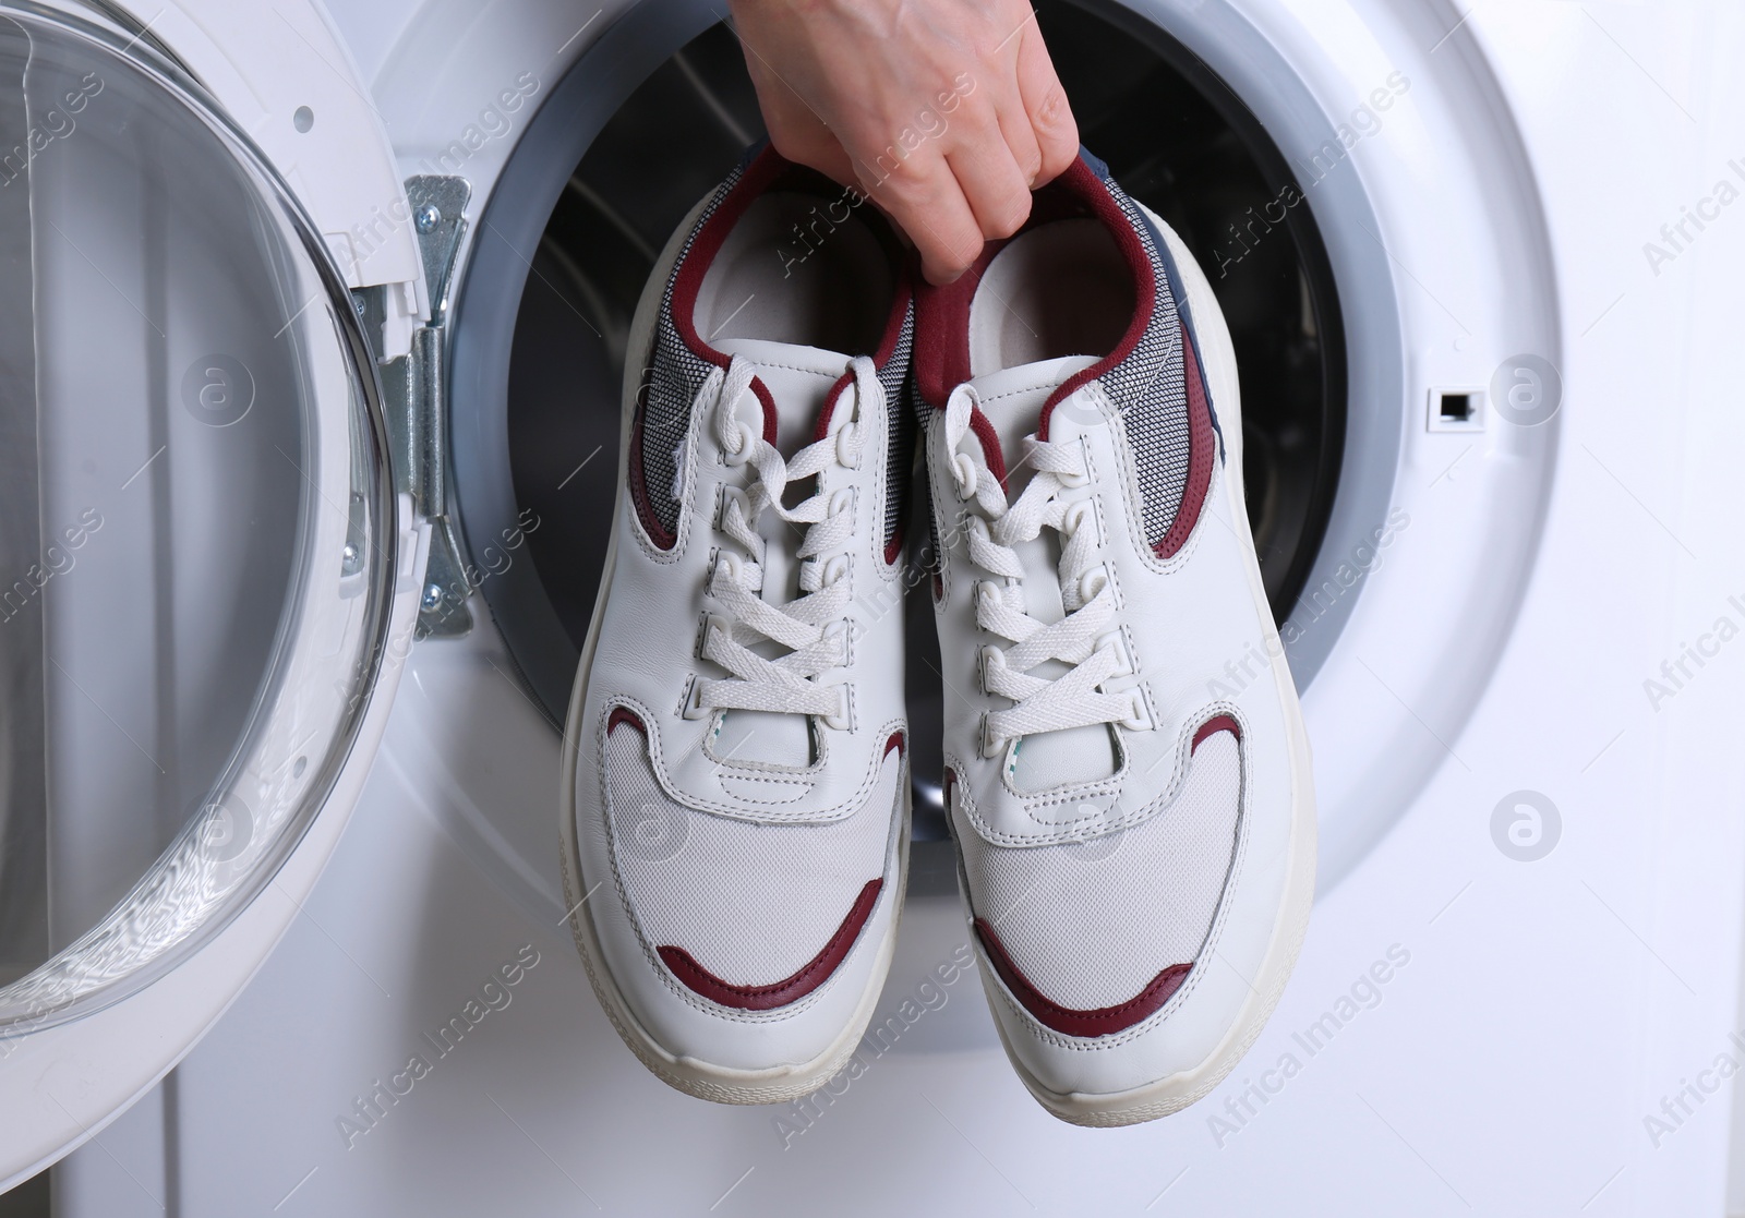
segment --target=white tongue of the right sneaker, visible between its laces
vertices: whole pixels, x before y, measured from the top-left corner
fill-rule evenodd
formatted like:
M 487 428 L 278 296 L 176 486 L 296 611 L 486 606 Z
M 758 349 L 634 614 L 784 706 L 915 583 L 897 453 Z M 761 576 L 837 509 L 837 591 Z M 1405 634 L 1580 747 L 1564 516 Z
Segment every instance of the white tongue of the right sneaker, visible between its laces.
M 1016 368 L 1002 368 L 972 377 L 982 403 L 982 414 L 1000 436 L 1005 454 L 1007 490 L 1012 499 L 1030 482 L 1024 459 L 1024 436 L 1035 435 L 1042 422 L 1042 407 L 1068 377 L 1096 363 L 1096 356 L 1061 356 Z M 1064 614 L 1056 564 L 1059 546 L 1047 530 L 1035 541 L 1017 546 L 1024 564 L 1024 600 L 1030 616 L 1042 621 L 1059 621 Z M 1037 677 L 1059 677 L 1066 665 L 1049 661 L 1031 670 Z M 1019 740 L 1012 752 L 1009 780 L 1019 790 L 1049 790 L 1082 782 L 1108 778 L 1120 764 L 1115 738 L 1105 724 L 1044 731 Z

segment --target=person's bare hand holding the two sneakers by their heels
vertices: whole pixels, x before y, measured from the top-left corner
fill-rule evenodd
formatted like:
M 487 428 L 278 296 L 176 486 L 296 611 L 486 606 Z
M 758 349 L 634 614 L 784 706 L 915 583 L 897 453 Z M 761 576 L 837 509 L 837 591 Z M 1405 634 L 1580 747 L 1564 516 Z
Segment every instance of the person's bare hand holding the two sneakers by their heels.
M 932 283 L 1030 216 L 1078 124 L 1024 0 L 729 0 L 770 141 L 859 187 Z

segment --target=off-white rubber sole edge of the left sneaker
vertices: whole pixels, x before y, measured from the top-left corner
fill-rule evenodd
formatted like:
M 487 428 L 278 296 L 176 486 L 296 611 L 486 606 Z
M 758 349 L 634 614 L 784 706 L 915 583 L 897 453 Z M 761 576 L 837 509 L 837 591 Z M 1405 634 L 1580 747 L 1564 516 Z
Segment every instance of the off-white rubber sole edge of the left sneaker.
M 637 302 L 635 319 L 630 326 L 628 346 L 628 351 L 639 361 L 653 349 L 654 326 L 660 321 L 660 302 L 667 288 L 667 277 L 672 272 L 672 265 L 677 262 L 679 253 L 684 250 L 686 234 L 689 234 L 696 225 L 696 220 L 707 204 L 708 197 L 698 202 L 696 208 L 693 208 L 684 218 L 684 223 L 679 225 L 677 232 L 661 251 L 660 262 L 656 262 L 654 270 L 649 276 L 649 283 L 642 290 L 642 298 Z M 581 651 L 581 663 L 576 668 L 576 684 L 571 691 L 569 714 L 564 721 L 564 770 L 560 778 L 562 785 L 558 789 L 558 869 L 564 876 L 564 904 L 571 911 L 571 937 L 576 941 L 576 949 L 581 953 L 581 963 L 588 970 L 588 984 L 593 986 L 593 995 L 600 1000 L 600 1007 L 606 1009 L 607 1019 L 612 1021 L 612 1028 L 618 1030 L 625 1045 L 630 1047 L 630 1052 L 633 1052 L 637 1059 L 649 1068 L 649 1071 L 686 1094 L 700 1099 L 710 1099 L 714 1103 L 787 1103 L 790 1099 L 799 1099 L 801 1096 L 810 1096 L 848 1064 L 855 1047 L 866 1035 L 867 1024 L 872 1021 L 872 1010 L 878 1005 L 879 993 L 885 989 L 885 975 L 890 972 L 890 961 L 897 949 L 897 925 L 902 921 L 902 902 L 909 883 L 909 785 L 907 782 L 904 783 L 902 831 L 897 841 L 897 883 L 892 892 L 895 909 L 892 913 L 890 932 L 879 944 L 878 958 L 872 963 L 872 975 L 867 981 L 866 993 L 855 1005 L 853 1019 L 843 1030 L 841 1037 L 832 1040 L 822 1054 L 797 1064 L 771 1066 L 768 1070 L 738 1070 L 733 1066 L 701 1061 L 698 1057 L 677 1056 L 665 1049 L 640 1024 L 640 1021 L 637 1021 L 635 1014 L 630 1010 L 630 1003 L 625 1002 L 623 993 L 618 989 L 618 982 L 612 979 L 611 968 L 606 967 L 606 953 L 600 948 L 599 935 L 593 928 L 593 916 L 588 911 L 588 893 L 597 888 L 604 888 L 609 878 L 599 876 L 597 883 L 590 888 L 586 876 L 583 876 L 581 871 L 581 846 L 576 838 L 576 771 L 581 757 L 579 731 L 588 698 L 588 679 L 593 672 L 593 656 L 600 642 L 600 619 L 606 612 L 606 602 L 611 597 L 612 571 L 618 562 L 619 517 L 626 511 L 628 504 L 630 464 L 623 459 L 623 454 L 628 454 L 630 450 L 630 429 L 635 417 L 635 391 L 640 380 L 640 372 L 642 370 L 633 365 L 625 370 L 626 386 L 623 391 L 623 412 L 618 429 L 618 452 L 621 459 L 618 462 L 618 506 L 612 520 L 612 539 L 606 551 L 606 572 L 600 578 L 600 592 L 593 602 L 593 618 L 588 623 L 588 639 Z

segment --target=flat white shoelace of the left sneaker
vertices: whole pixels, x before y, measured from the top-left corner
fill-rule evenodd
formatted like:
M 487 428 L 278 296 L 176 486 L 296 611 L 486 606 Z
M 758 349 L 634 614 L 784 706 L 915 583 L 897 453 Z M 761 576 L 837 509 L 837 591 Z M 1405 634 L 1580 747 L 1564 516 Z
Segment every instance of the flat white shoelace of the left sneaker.
M 698 403 L 714 398 L 714 438 L 729 466 L 750 464 L 750 487 L 722 489 L 721 532 L 745 553 L 721 550 L 708 578 L 708 592 L 722 612 L 710 614 L 703 637 L 703 658 L 726 668 L 731 677 L 698 679 L 693 686 L 691 712 L 775 710 L 796 715 L 820 715 L 832 728 L 846 728 L 848 691 L 841 684 L 820 684 L 815 677 L 848 661 L 850 562 L 843 553 L 855 536 L 855 492 L 822 489 L 804 503 L 787 508 L 787 487 L 804 482 L 831 466 L 855 469 L 864 438 L 860 419 L 866 405 L 885 389 L 878 370 L 866 356 L 848 363 L 853 372 L 853 414 L 824 440 L 817 440 L 785 461 L 763 431 L 743 422 L 736 407 L 757 375 L 756 365 L 735 356 L 726 372 L 715 368 L 698 391 Z M 838 410 L 846 410 L 845 398 Z M 799 592 L 787 604 L 763 599 L 766 541 L 757 520 L 773 511 L 794 525 L 806 525 L 799 550 Z M 770 660 L 752 651 L 763 640 L 787 647 L 787 654 Z

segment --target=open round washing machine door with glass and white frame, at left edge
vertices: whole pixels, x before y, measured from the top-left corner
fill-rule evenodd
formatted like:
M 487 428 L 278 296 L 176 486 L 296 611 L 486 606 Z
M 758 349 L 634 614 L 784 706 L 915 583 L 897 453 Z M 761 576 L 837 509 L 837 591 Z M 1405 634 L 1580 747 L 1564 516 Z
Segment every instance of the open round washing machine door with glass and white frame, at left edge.
M 295 918 L 415 604 L 347 270 L 154 40 L 0 3 L 0 1188 Z

